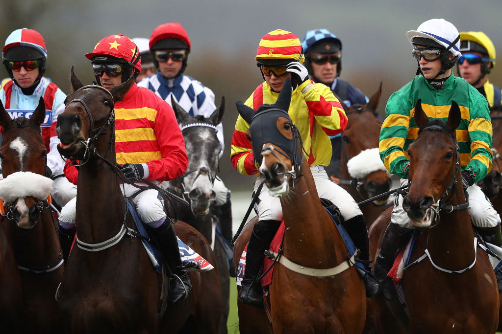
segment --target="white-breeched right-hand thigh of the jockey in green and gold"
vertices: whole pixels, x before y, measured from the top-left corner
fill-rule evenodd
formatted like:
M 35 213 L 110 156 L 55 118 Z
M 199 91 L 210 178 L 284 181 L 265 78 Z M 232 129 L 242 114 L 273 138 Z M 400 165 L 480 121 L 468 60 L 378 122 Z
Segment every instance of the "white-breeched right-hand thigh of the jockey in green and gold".
M 494 227 L 500 223 L 500 216 L 477 184 L 467 188 L 469 193 L 469 216 L 476 227 Z

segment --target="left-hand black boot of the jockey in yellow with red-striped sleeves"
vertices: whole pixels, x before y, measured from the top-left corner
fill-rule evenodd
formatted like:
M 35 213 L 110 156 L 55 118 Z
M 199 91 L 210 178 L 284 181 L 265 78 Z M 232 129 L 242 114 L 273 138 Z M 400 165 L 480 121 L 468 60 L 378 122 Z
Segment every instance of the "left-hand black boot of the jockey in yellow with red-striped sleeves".
M 244 304 L 263 306 L 262 283 L 257 278 L 263 265 L 265 250 L 270 246 L 280 224 L 277 220 L 260 220 L 253 227 L 247 245 L 244 277 L 237 295 L 237 299 Z

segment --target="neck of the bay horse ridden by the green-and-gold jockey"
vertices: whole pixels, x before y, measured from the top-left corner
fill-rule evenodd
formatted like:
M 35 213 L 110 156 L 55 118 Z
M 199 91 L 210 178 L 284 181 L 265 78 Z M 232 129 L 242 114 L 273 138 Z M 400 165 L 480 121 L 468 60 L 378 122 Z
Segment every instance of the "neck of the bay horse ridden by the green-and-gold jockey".
M 457 175 L 455 193 L 451 199 L 447 200 L 447 205 L 465 203 L 462 182 L 459 180 L 461 180 L 460 172 Z M 474 259 L 474 235 L 467 209 L 452 212 L 442 210 L 437 224 L 429 228 L 427 232 L 427 248 L 438 265 L 461 269 Z

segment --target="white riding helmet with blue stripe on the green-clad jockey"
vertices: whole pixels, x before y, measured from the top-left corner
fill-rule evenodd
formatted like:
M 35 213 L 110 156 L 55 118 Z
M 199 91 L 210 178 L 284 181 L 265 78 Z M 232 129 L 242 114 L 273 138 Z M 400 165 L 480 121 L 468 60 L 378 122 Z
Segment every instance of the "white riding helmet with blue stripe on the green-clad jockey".
M 451 69 L 462 56 L 460 53 L 460 35 L 457 28 L 444 19 L 432 19 L 422 23 L 417 30 L 410 30 L 406 33 L 408 41 L 415 50 L 435 49 L 440 51 L 441 71 L 437 76 L 444 74 Z M 449 53 L 454 58 L 449 60 Z M 417 75 L 422 74 L 420 70 L 420 59 L 417 60 Z

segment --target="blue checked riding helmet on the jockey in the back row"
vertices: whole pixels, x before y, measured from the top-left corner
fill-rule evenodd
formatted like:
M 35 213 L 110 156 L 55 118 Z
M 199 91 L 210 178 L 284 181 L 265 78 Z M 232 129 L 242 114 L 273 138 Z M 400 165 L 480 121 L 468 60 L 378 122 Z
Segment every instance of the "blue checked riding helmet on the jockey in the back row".
M 342 51 L 342 42 L 327 29 L 314 29 L 309 30 L 302 40 L 302 47 L 305 52 L 305 67 L 312 76 L 312 65 L 310 55 L 312 54 L 334 54 Z M 340 61 L 336 67 L 336 76 L 340 75 L 342 71 L 342 61 L 340 54 Z M 315 82 L 319 82 L 313 78 Z

